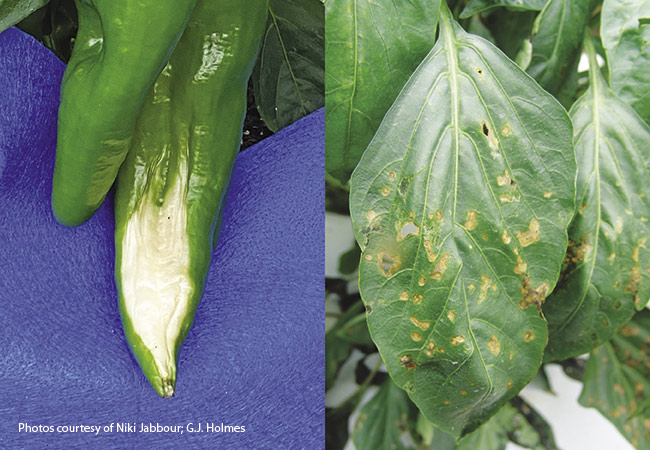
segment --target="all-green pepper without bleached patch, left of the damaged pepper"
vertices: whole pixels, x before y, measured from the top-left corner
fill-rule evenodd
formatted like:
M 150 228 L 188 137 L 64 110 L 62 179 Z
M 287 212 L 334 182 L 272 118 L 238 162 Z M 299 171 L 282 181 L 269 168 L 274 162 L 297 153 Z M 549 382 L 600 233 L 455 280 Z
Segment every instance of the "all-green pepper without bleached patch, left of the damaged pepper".
M 238 3 L 238 2 L 235 2 Z M 131 146 L 145 94 L 181 37 L 196 0 L 76 0 L 79 32 L 59 108 L 52 208 L 85 222 Z

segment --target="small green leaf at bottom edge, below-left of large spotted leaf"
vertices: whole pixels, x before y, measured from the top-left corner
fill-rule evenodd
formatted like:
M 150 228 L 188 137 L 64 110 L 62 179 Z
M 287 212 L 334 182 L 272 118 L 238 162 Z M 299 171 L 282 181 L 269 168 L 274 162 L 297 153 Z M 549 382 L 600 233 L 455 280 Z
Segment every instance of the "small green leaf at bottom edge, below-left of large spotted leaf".
M 402 441 L 402 434 L 410 434 L 409 422 L 416 420 L 417 408 L 403 390 L 387 379 L 375 396 L 361 407 L 352 440 L 358 449 L 406 449 L 409 447 Z

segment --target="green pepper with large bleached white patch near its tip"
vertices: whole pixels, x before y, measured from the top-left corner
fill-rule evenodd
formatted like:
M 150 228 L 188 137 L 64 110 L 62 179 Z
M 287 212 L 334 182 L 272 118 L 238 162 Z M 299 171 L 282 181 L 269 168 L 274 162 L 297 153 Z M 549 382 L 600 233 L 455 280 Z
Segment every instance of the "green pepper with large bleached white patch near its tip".
M 115 197 L 122 323 L 147 379 L 173 395 L 203 292 L 267 1 L 199 0 L 147 94 Z

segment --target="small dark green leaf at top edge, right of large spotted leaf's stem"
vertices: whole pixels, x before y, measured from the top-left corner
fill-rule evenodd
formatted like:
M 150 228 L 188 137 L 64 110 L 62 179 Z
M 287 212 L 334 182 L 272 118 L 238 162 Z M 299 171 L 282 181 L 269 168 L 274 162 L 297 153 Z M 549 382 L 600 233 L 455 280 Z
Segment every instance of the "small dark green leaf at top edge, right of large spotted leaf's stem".
M 577 69 L 589 18 L 586 0 L 550 0 L 537 17 L 526 71 L 551 94 L 560 91 L 572 68 Z

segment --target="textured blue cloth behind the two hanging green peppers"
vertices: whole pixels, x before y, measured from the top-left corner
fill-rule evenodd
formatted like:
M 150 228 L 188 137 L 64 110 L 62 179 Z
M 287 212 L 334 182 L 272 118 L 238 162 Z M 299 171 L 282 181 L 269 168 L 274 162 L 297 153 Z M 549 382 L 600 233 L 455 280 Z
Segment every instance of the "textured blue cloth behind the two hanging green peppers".
M 162 399 L 122 332 L 112 199 L 74 229 L 50 210 L 63 70 L 31 37 L 0 34 L 0 448 L 322 448 L 323 111 L 239 155 L 176 397 Z M 246 431 L 25 433 L 21 422 Z

